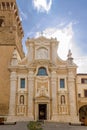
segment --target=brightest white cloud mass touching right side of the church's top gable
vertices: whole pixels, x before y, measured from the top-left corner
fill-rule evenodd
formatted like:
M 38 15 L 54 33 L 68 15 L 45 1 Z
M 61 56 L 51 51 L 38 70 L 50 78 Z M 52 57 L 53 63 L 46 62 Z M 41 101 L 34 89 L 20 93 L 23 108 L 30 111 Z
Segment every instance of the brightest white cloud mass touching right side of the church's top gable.
M 37 36 L 40 33 L 37 33 Z M 64 27 L 63 29 L 58 28 L 47 28 L 43 31 L 43 35 L 50 38 L 57 38 L 59 43 L 58 55 L 62 59 L 67 58 L 68 50 L 71 48 L 71 41 L 73 37 L 72 23 Z

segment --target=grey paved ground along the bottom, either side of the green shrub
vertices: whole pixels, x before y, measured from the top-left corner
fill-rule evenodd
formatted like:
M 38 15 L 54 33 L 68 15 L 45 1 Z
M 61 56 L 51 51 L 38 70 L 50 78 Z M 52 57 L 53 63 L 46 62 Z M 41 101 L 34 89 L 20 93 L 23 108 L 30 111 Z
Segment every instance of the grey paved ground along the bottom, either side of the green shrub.
M 0 125 L 0 130 L 28 130 L 27 124 L 27 122 L 18 122 L 16 125 Z M 44 123 L 43 130 L 87 130 L 87 126 Z

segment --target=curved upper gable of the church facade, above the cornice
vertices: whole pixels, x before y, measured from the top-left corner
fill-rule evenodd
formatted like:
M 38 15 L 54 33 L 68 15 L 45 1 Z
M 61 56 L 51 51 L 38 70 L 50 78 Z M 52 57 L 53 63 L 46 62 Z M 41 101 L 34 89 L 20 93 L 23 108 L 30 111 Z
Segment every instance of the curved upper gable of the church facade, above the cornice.
M 50 68 L 66 68 L 68 65 L 76 66 L 73 63 L 72 53 L 69 51 L 66 61 L 62 60 L 57 54 L 58 41 L 54 38 L 48 39 L 44 36 L 27 39 L 27 56 L 22 59 L 18 65 L 24 65 L 27 68 L 37 66 L 48 66 Z

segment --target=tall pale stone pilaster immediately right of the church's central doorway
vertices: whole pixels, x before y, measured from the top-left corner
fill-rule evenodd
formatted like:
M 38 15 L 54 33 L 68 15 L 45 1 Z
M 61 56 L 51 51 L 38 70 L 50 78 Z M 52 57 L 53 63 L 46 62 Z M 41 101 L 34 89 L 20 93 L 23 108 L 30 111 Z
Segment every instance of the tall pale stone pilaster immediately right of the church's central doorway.
M 56 72 L 51 72 L 51 92 L 52 92 L 52 120 L 57 119 L 57 77 Z

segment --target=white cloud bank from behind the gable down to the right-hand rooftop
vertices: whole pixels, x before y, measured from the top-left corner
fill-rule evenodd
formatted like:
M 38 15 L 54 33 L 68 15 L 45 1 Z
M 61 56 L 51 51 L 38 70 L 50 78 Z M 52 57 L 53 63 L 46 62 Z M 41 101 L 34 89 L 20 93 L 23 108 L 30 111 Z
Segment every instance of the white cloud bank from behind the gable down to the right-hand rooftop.
M 47 28 L 43 31 L 43 36 L 47 38 L 57 38 L 59 41 L 58 55 L 63 60 L 67 59 L 68 50 L 71 49 L 72 56 L 75 58 L 75 63 L 78 65 L 78 72 L 87 72 L 87 61 L 85 58 L 81 59 L 82 51 L 80 46 L 77 46 L 74 40 L 73 23 L 69 23 L 64 28 Z M 36 37 L 41 35 L 37 32 Z M 81 60 L 79 60 L 79 58 Z

